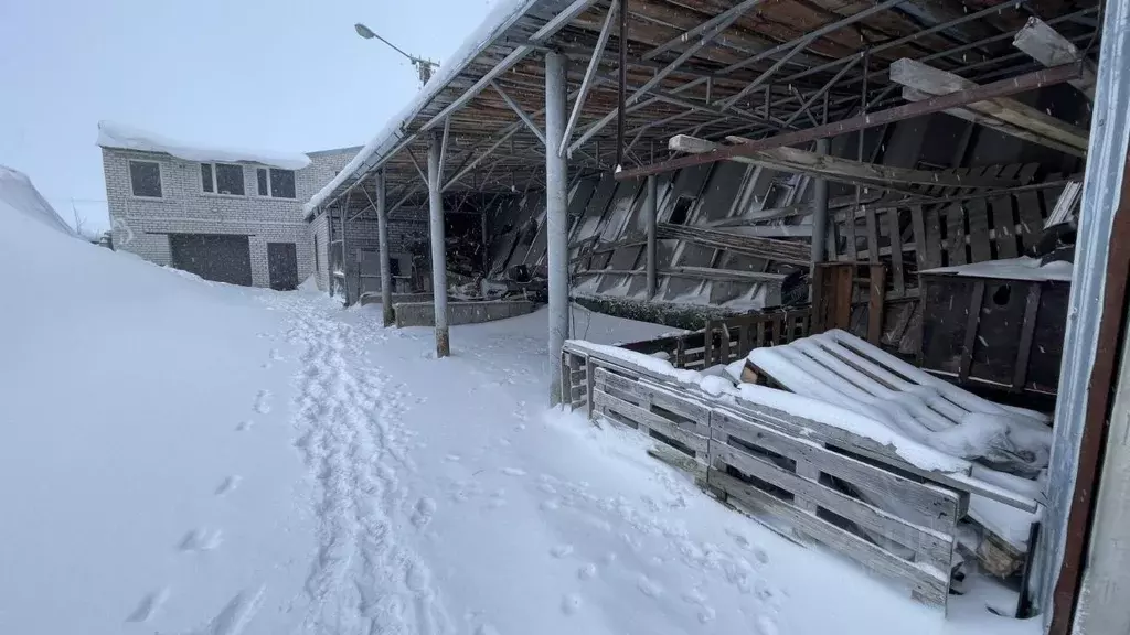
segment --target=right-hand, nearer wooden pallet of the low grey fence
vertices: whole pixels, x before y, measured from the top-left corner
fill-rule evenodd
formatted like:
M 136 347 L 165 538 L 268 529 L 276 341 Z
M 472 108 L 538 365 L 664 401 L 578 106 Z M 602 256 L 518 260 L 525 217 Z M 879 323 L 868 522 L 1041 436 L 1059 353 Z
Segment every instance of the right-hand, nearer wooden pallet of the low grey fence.
M 711 433 L 706 482 L 715 492 L 904 583 L 924 603 L 946 606 L 957 493 L 753 419 L 712 415 Z M 895 515 L 864 498 L 898 501 L 906 512 Z

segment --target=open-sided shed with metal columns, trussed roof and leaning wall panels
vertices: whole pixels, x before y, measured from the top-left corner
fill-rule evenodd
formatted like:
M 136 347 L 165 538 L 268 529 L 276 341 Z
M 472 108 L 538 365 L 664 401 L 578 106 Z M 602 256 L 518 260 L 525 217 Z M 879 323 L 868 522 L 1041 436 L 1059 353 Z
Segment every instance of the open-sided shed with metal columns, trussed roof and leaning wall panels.
M 1096 342 L 1121 332 L 1127 271 L 1123 5 L 499 0 L 307 218 L 347 303 L 382 302 L 386 324 L 400 294 L 433 303 L 438 356 L 453 284 L 544 279 L 554 402 L 573 301 L 699 329 L 823 311 L 920 364 L 923 332 L 957 338 L 940 375 L 1058 397 L 1029 584 L 1067 633 L 1110 407 L 1087 386 L 1112 381 Z M 1074 275 L 1001 292 L 983 272 L 1076 218 Z M 390 252 L 398 219 L 427 229 Z M 953 297 L 960 318 L 931 322 Z

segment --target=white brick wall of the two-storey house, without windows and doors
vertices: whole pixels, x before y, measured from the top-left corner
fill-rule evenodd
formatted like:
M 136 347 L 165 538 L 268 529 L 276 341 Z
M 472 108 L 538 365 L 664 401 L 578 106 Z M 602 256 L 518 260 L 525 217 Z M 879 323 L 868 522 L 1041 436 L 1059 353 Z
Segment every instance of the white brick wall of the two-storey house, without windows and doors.
M 249 236 L 252 284 L 270 284 L 267 243 L 294 243 L 298 279 L 314 271 L 312 232 L 302 205 L 318 192 L 356 155 L 357 148 L 312 153 L 311 165 L 295 172 L 295 199 L 259 197 L 257 165 L 243 166 L 246 195 L 206 193 L 200 183 L 200 164 L 162 153 L 139 153 L 103 148 L 102 164 L 115 249 L 133 252 L 157 264 L 171 264 L 168 234 L 238 234 Z M 162 198 L 134 197 L 129 162 L 148 160 L 160 165 Z M 319 243 L 328 243 L 319 238 Z M 319 249 L 325 249 L 322 244 Z M 322 260 L 323 267 L 327 260 Z M 320 284 L 320 288 L 324 288 Z

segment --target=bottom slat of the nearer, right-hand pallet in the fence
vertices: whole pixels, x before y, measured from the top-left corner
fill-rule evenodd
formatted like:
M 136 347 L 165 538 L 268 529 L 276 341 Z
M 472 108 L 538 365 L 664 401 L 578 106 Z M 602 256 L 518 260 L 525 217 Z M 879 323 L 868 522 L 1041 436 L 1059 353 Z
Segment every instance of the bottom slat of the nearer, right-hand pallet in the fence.
M 854 559 L 867 569 L 902 581 L 912 589 L 913 597 L 923 602 L 940 607 L 946 606 L 949 594 L 948 574 L 939 576 L 937 573 L 930 573 L 897 558 L 858 536 L 798 510 L 789 503 L 774 498 L 714 468 L 707 469 L 706 480 L 753 510 L 762 510 L 784 519 L 807 536 Z

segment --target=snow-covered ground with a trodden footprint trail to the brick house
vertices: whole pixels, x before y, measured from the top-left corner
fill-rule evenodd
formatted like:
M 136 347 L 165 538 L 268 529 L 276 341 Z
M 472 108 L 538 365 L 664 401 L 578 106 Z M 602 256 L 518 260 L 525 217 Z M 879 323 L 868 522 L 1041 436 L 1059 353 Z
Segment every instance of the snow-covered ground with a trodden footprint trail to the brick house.
M 945 620 L 547 410 L 545 312 L 436 360 L 380 307 L 0 227 L 0 633 L 1038 632 L 974 594 Z

